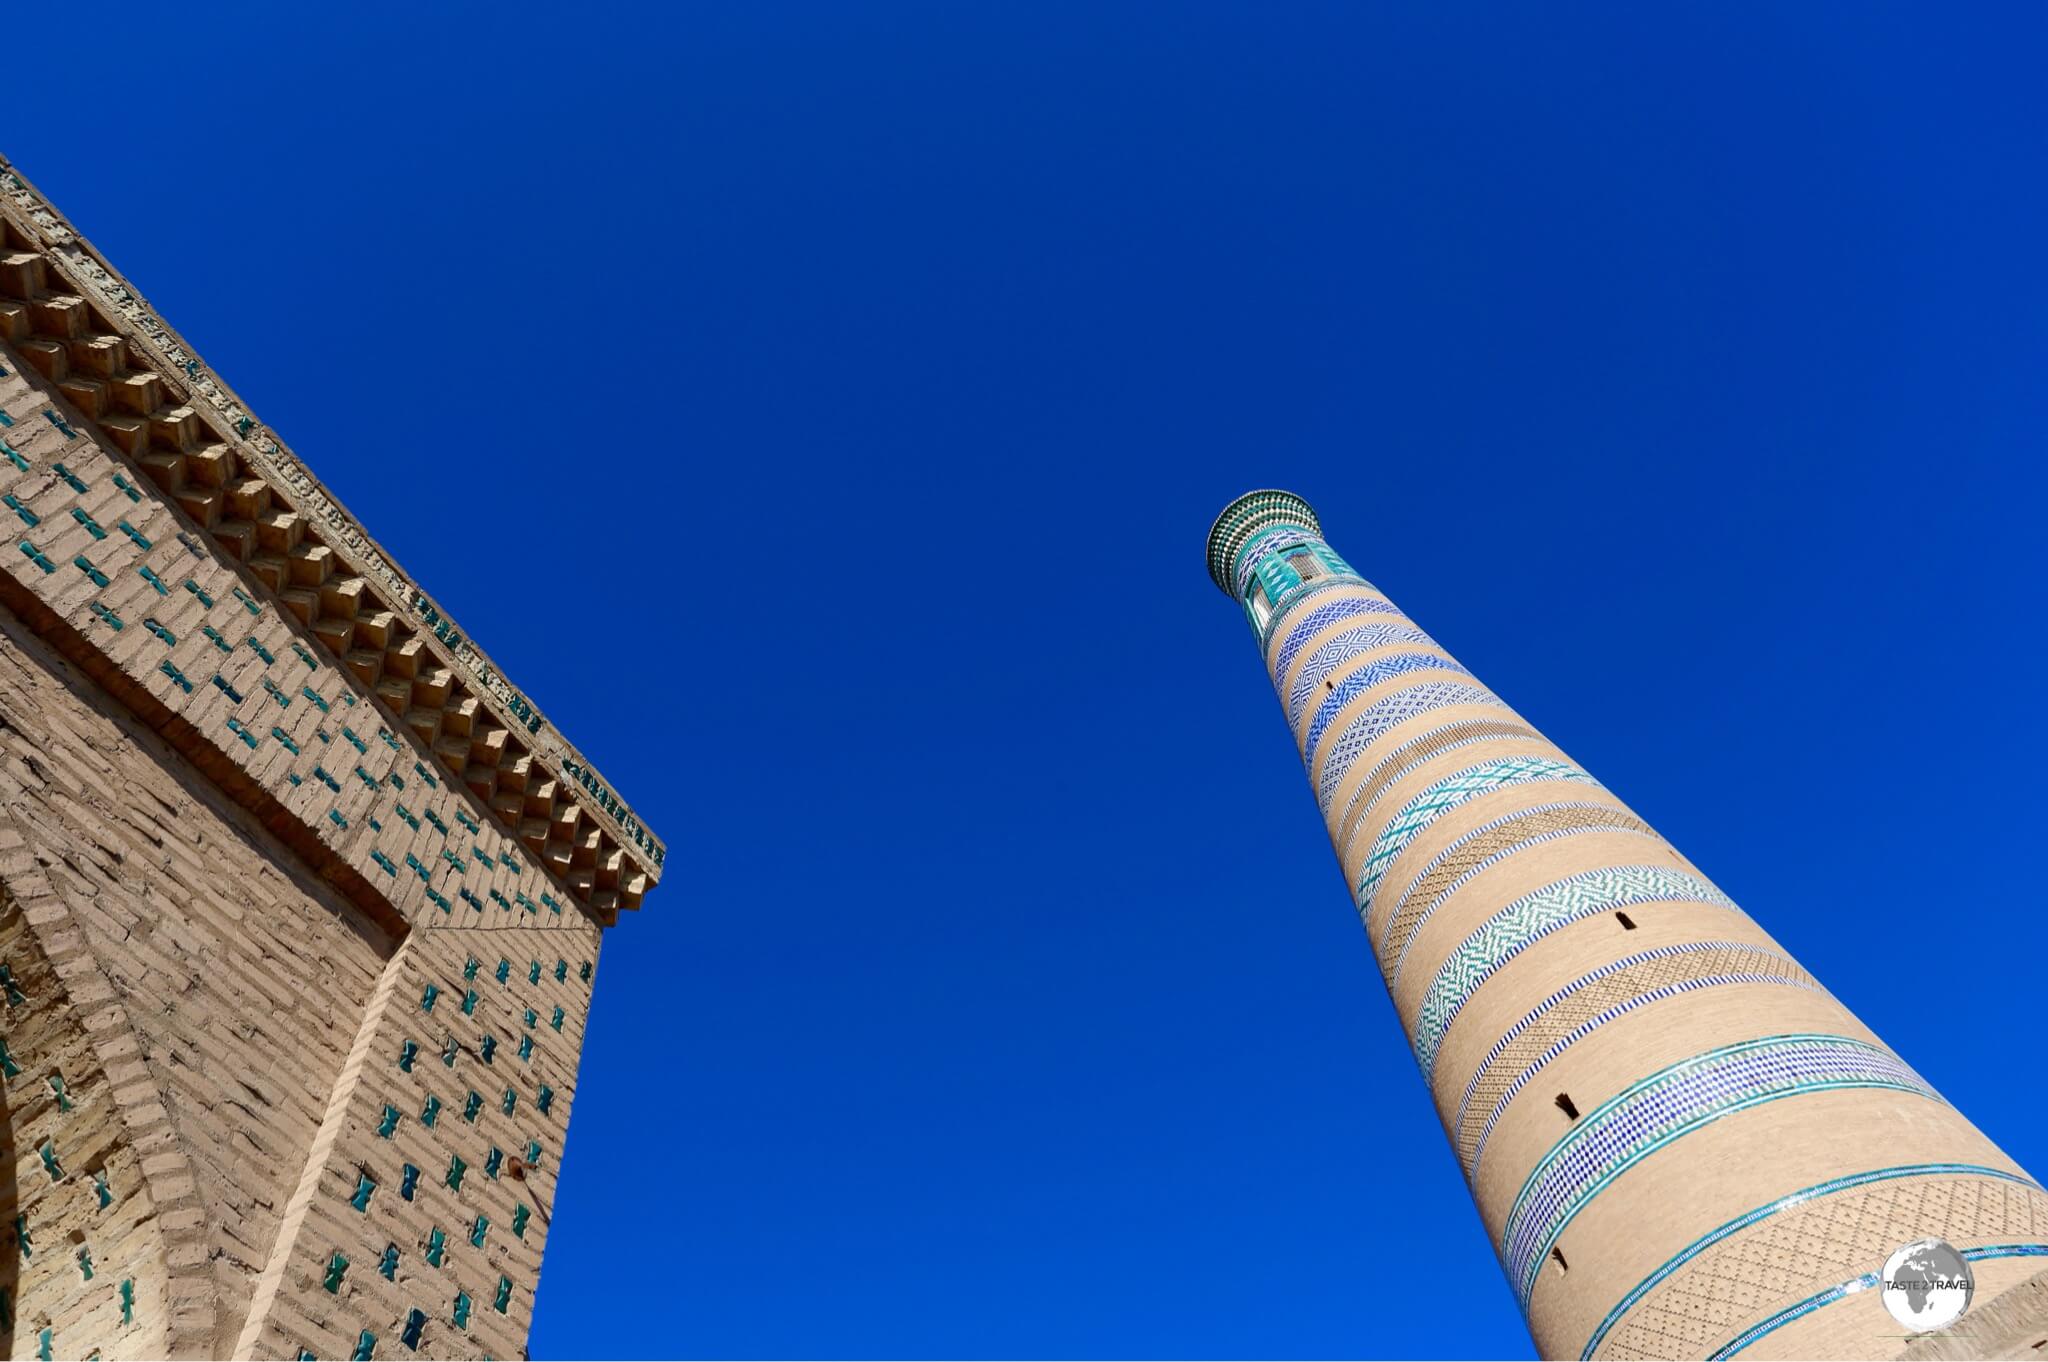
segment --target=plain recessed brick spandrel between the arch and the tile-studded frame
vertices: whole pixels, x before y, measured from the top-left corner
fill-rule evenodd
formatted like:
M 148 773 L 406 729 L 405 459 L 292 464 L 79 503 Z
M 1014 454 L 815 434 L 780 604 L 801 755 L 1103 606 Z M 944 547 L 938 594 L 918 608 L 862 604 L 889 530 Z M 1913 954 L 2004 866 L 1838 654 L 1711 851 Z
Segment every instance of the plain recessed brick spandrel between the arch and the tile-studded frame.
M 12 614 L 0 725 L 10 821 L 190 1163 L 225 1350 L 391 940 Z

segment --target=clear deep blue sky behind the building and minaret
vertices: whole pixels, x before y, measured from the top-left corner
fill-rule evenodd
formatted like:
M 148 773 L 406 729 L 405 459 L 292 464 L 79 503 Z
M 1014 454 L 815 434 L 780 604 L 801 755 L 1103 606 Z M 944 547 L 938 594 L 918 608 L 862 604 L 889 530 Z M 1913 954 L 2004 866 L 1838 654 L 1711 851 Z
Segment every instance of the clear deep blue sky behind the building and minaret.
M 1528 1356 L 1202 533 L 2048 1172 L 2044 27 L 158 4 L 4 137 L 668 838 L 535 1356 Z

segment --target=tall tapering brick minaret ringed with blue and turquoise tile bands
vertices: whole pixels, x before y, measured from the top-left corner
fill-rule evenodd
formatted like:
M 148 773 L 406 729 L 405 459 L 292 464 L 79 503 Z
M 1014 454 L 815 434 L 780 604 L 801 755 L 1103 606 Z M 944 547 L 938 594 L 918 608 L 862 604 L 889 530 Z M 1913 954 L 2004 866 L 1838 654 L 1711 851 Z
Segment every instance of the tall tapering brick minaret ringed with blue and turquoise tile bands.
M 1874 1288 L 1919 1239 L 1970 1262 L 1976 1356 L 2048 1356 L 2048 1194 L 2013 1159 L 1298 496 L 1231 502 L 1208 573 L 1544 1356 L 1931 1356 Z

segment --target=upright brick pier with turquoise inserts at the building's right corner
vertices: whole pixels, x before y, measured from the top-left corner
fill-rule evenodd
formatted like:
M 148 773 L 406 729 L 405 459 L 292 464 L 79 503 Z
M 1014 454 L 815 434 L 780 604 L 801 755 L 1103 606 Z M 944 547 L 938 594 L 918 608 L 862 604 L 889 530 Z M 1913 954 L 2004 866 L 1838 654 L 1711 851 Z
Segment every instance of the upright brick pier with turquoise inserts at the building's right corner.
M 522 1339 L 555 1204 L 596 930 L 416 932 L 391 961 L 244 1325 L 244 1356 Z M 410 1057 L 410 1059 L 408 1059 Z M 356 1206 L 362 1180 L 375 1190 Z M 324 1282 L 340 1253 L 340 1290 Z M 268 1292 L 268 1294 L 264 1294 Z M 313 1303 L 307 1309 L 307 1303 Z M 457 1323 L 457 1319 L 465 1323 Z

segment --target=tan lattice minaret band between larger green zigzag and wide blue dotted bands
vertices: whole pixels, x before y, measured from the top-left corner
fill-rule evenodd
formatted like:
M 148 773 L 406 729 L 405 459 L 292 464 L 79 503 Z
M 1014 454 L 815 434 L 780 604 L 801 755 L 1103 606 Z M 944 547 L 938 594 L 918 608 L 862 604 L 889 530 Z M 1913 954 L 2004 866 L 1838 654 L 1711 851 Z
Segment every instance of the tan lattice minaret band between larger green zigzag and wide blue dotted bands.
M 1804 969 L 1763 946 L 1679 942 L 1602 965 L 1538 1004 L 1493 1042 L 1458 1100 L 1458 1114 L 1450 1124 L 1466 1180 L 1479 1178 L 1487 1137 L 1507 1104 L 1573 1042 L 1636 1008 L 1726 983 L 1821 987 Z

